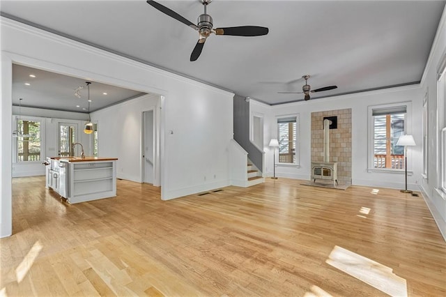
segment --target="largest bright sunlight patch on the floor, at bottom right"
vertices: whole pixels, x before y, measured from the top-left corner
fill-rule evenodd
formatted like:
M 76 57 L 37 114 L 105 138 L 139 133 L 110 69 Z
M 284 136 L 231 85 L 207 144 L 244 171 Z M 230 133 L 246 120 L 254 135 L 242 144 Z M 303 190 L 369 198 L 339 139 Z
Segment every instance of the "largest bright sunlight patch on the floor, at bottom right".
M 325 262 L 385 294 L 407 296 L 406 280 L 392 273 L 392 268 L 369 258 L 336 245 Z

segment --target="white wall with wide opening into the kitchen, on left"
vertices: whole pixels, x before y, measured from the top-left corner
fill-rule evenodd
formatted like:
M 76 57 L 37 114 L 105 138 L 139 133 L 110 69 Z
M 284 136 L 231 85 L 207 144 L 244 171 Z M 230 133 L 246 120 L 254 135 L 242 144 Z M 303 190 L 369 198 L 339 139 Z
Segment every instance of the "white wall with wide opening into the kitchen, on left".
M 12 131 L 12 63 L 85 77 L 165 96 L 161 110 L 162 199 L 229 185 L 233 93 L 4 17 L 0 20 L 3 135 Z M 0 142 L 1 237 L 12 232 L 11 141 L 11 137 L 1 137 Z

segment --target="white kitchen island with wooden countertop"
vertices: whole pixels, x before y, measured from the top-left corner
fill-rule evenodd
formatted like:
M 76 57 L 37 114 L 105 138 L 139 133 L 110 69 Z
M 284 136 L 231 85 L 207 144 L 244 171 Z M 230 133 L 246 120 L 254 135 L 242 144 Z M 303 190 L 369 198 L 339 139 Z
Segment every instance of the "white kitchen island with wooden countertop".
M 98 157 L 47 158 L 46 188 L 68 203 L 116 196 L 116 160 Z

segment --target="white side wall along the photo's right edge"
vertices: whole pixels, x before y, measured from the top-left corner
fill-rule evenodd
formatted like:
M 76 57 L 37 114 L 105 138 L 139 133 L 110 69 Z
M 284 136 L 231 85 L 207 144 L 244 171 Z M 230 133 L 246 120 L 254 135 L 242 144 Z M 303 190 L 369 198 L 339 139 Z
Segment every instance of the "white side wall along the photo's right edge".
M 421 178 L 421 189 L 426 204 L 429 206 L 438 228 L 446 239 L 446 195 L 441 195 L 440 188 L 440 135 L 438 133 L 437 105 L 437 69 L 440 61 L 446 55 L 446 10 L 438 26 L 436 40 L 433 43 L 426 69 L 422 79 L 422 94 L 428 93 L 428 174 L 427 179 Z M 421 142 L 420 142 L 421 144 Z M 421 162 L 421 160 L 420 160 Z

